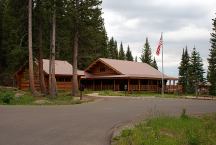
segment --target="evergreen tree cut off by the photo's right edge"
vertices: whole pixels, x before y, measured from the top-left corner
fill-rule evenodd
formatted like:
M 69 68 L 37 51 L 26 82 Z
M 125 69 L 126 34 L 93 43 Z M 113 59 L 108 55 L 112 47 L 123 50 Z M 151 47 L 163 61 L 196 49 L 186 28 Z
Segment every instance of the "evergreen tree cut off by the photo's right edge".
M 211 33 L 211 49 L 208 58 L 208 81 L 211 83 L 209 93 L 216 96 L 216 18 L 213 19 L 213 32 Z

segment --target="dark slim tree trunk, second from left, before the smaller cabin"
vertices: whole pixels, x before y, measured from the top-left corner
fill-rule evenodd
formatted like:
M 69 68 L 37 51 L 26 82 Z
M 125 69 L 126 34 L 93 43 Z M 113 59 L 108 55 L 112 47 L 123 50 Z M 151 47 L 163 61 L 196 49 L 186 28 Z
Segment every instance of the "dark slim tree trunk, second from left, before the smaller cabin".
M 40 16 L 39 16 L 40 17 Z M 39 39 L 39 59 L 38 59 L 38 64 L 39 64 L 39 79 L 40 79 L 40 89 L 41 93 L 46 94 L 46 85 L 44 81 L 44 72 L 43 72 L 43 34 L 42 34 L 42 24 L 41 24 L 41 19 L 39 18 L 39 23 L 38 23 L 38 39 Z

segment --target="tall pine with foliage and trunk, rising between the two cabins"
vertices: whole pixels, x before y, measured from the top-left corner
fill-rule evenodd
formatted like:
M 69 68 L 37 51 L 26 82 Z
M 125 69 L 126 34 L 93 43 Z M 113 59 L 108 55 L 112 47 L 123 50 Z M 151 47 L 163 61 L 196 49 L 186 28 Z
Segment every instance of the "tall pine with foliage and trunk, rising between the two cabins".
M 102 18 L 101 0 L 68 0 L 65 1 L 73 33 L 73 95 L 77 94 L 78 81 L 76 70 L 86 67 L 97 58 L 100 48 L 104 46 L 104 22 Z M 76 83 L 75 83 L 76 82 Z

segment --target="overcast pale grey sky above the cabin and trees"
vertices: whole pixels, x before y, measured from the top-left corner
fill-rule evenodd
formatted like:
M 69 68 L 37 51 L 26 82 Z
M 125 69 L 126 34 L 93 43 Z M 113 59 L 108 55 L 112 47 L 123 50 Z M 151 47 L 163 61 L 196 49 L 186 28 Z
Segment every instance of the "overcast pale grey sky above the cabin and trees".
M 197 48 L 207 68 L 216 0 L 103 0 L 102 8 L 108 37 L 113 36 L 118 44 L 122 41 L 125 51 L 130 45 L 134 57 L 140 57 L 148 37 L 160 67 L 161 55 L 155 51 L 163 32 L 166 74 L 178 76 L 186 45 L 189 53 Z

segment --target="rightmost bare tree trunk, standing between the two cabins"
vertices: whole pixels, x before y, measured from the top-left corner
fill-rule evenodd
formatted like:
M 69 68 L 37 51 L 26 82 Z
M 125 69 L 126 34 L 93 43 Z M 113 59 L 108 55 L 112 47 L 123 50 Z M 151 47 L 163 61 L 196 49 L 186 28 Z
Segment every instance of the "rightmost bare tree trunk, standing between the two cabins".
M 78 94 L 78 75 L 77 75 L 77 55 L 79 47 L 79 33 L 76 31 L 74 37 L 74 49 L 73 49 L 73 89 L 72 95 L 77 96 Z

